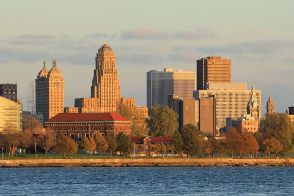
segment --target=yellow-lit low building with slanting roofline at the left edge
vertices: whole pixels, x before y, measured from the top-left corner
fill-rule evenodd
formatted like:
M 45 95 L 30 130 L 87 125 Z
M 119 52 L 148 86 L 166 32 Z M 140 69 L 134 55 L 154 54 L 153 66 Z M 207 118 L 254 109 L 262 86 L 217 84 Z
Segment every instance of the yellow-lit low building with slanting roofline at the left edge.
M 20 131 L 22 125 L 22 104 L 0 97 L 0 132 L 3 129 Z

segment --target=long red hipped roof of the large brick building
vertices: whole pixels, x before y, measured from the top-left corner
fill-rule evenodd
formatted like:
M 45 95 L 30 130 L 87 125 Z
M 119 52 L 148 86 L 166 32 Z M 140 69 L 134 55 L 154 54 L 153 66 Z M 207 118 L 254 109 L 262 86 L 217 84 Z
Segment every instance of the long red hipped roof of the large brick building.
M 129 121 L 119 113 L 60 113 L 47 122 L 73 122 L 73 121 Z

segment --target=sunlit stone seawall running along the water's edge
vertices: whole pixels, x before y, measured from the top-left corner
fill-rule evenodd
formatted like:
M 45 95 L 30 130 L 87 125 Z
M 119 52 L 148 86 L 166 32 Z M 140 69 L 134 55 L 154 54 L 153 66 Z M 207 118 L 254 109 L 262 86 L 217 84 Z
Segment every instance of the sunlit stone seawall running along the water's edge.
M 294 166 L 290 158 L 120 158 L 120 159 L 13 159 L 0 167 L 183 167 L 183 166 Z

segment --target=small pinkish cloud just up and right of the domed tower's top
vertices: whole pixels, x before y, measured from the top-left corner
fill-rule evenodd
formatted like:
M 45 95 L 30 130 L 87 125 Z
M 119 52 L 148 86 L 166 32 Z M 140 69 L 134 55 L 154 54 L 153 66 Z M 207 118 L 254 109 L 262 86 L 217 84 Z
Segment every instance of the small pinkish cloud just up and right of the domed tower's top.
M 139 28 L 136 30 L 124 31 L 121 34 L 121 39 L 131 40 L 131 39 L 143 39 L 143 40 L 164 40 L 167 39 L 168 35 L 166 33 L 158 32 L 152 28 Z

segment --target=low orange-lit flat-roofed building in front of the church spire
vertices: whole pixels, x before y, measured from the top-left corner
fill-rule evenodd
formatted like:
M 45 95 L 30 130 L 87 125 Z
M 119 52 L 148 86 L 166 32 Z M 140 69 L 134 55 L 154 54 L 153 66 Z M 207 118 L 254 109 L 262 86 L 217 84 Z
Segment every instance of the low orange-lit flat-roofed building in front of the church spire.
M 242 134 L 246 132 L 255 133 L 259 129 L 259 119 L 251 117 L 251 115 L 245 114 L 238 118 L 226 118 L 226 131 L 231 127 L 236 128 Z

